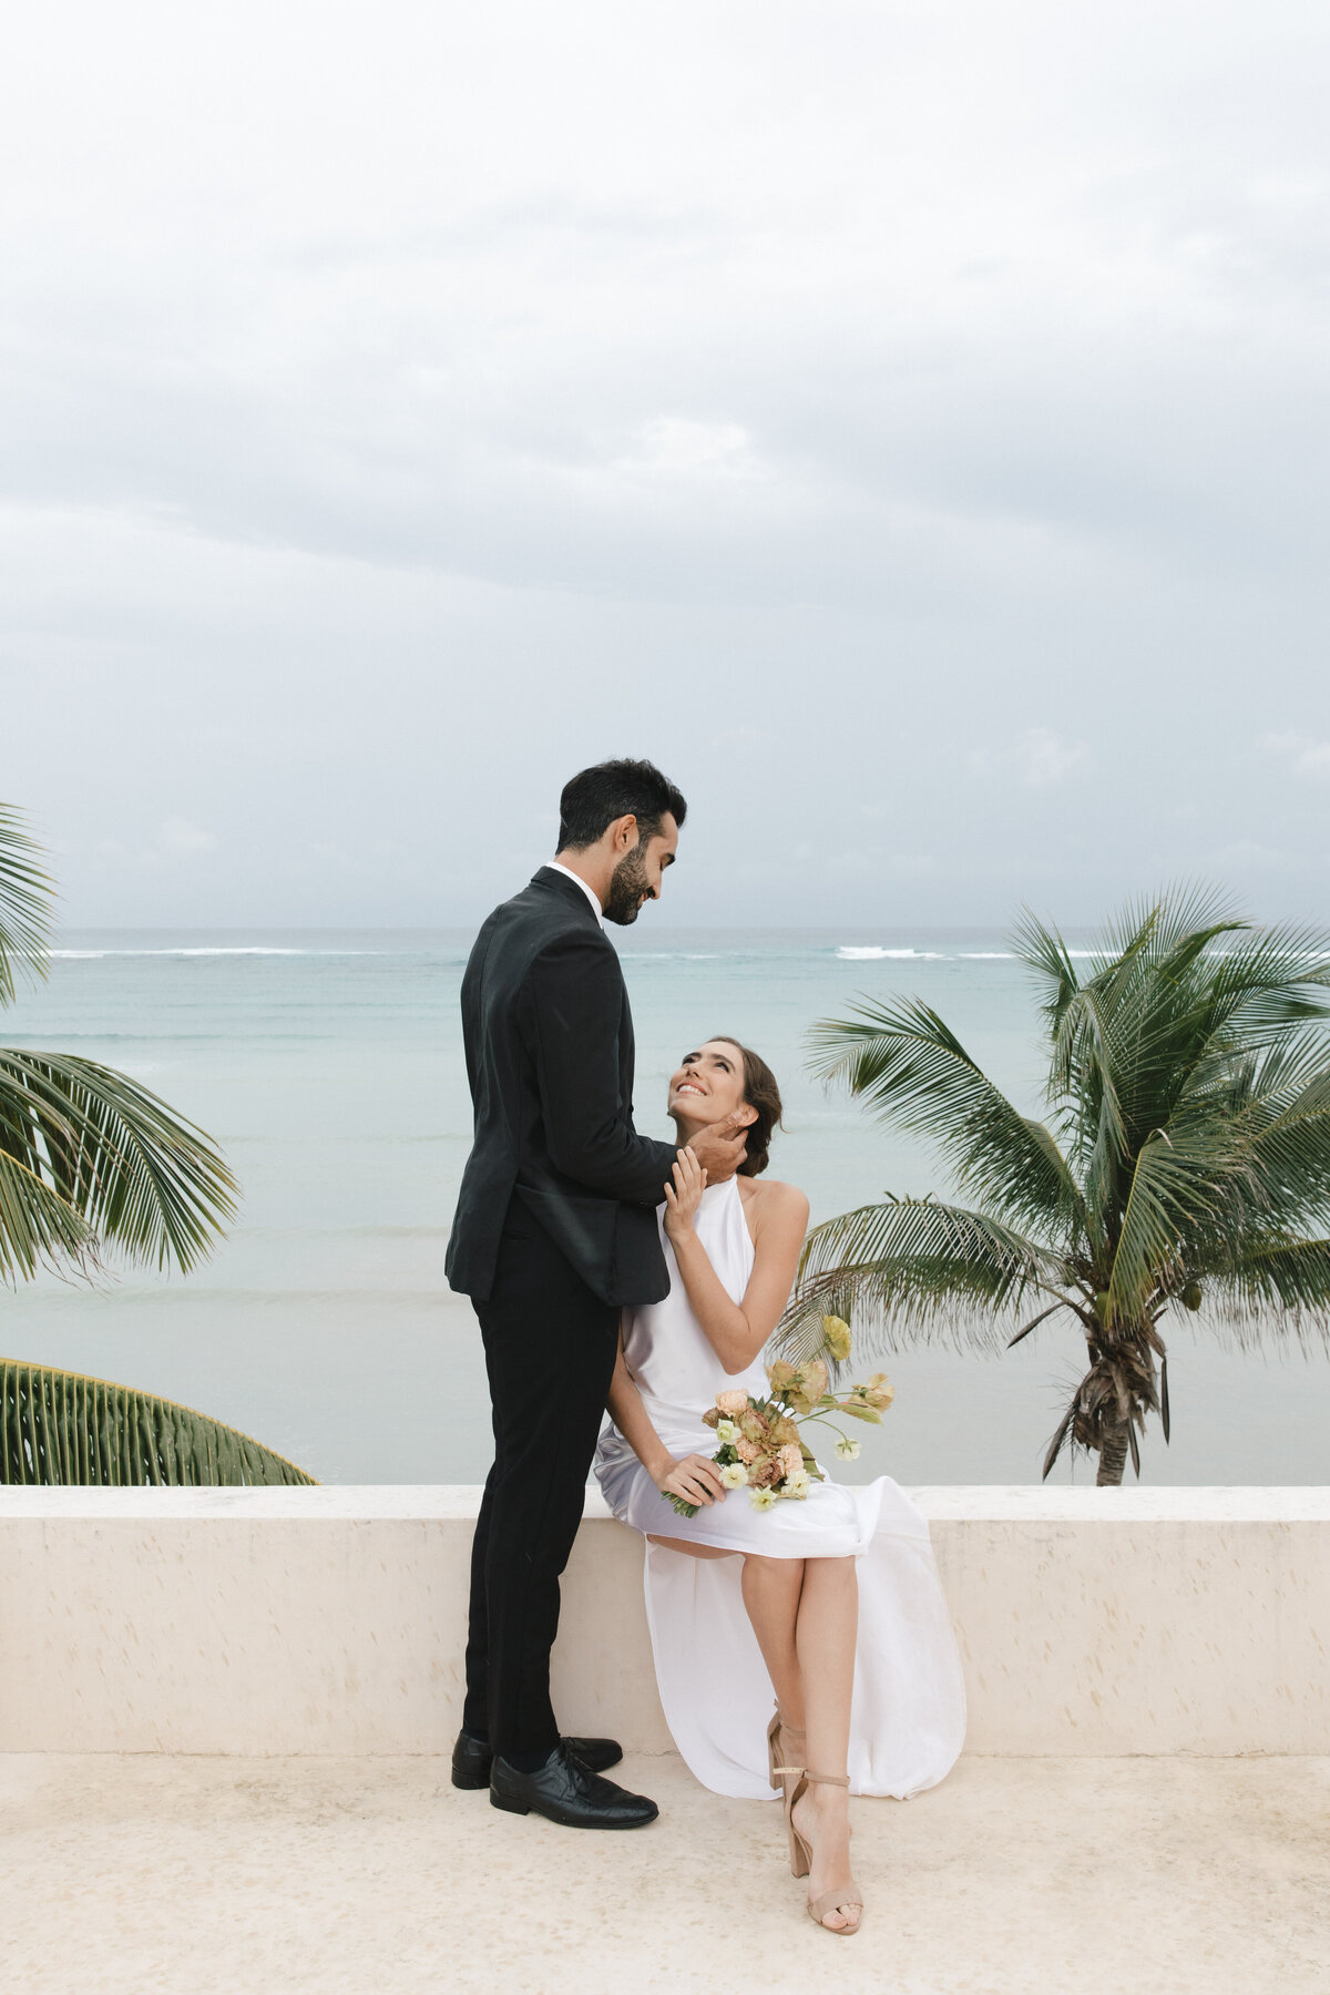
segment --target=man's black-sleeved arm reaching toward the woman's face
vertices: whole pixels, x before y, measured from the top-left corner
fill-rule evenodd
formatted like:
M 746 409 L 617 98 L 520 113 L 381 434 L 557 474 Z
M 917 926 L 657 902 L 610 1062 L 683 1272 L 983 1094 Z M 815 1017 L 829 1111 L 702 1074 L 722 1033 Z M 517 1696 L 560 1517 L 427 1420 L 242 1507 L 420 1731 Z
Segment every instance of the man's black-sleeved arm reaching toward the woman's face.
M 530 970 L 536 1085 L 554 1169 L 626 1205 L 660 1205 L 674 1143 L 638 1135 L 618 1099 L 618 962 L 570 932 Z

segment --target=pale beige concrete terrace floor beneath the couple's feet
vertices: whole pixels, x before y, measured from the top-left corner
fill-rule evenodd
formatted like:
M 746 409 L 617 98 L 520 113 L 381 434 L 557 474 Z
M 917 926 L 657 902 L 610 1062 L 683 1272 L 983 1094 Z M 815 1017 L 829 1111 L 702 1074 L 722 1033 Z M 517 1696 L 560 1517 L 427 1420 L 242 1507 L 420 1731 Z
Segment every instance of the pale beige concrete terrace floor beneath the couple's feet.
M 443 1760 L 0 1758 L 6 1995 L 1302 1995 L 1330 1989 L 1330 1760 L 963 1760 L 855 1801 L 855 1939 L 776 1805 L 674 1758 L 626 1835 Z

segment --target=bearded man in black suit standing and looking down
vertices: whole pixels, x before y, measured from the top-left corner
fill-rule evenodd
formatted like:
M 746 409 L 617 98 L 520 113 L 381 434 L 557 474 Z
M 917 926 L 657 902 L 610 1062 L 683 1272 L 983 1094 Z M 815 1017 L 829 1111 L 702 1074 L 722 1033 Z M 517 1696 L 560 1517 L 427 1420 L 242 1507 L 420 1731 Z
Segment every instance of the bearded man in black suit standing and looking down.
M 463 978 L 475 1145 L 447 1265 L 481 1319 L 495 1466 L 453 1784 L 489 1784 L 495 1807 L 568 1827 L 658 1813 L 600 1778 L 622 1758 L 614 1740 L 558 1736 L 548 1662 L 620 1305 L 668 1291 L 654 1209 L 676 1149 L 632 1127 L 632 1015 L 604 922 L 626 928 L 660 900 L 684 814 L 650 762 L 582 770 L 560 798 L 554 864 L 491 914 Z M 694 1149 L 712 1181 L 732 1177 L 744 1131 L 722 1125 Z

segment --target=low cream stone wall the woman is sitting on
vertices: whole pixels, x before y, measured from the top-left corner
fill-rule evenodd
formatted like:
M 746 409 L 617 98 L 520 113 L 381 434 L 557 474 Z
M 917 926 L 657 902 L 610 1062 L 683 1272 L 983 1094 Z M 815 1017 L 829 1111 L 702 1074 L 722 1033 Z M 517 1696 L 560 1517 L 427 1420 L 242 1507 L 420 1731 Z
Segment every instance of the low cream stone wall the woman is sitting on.
M 473 1486 L 0 1490 L 0 1752 L 437 1754 Z M 1330 1490 L 923 1488 L 971 1754 L 1330 1750 Z M 556 1708 L 670 1746 L 588 1492 Z

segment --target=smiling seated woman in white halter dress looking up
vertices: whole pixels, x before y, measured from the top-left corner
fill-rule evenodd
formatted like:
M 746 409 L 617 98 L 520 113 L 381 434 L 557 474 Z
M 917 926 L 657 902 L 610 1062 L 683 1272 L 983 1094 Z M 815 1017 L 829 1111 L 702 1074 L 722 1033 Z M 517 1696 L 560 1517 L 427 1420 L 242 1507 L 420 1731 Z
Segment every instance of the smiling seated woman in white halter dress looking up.
M 760 1353 L 790 1301 L 808 1199 L 758 1183 L 780 1091 L 736 1039 L 686 1053 L 668 1107 L 684 1147 L 660 1207 L 672 1287 L 624 1311 L 596 1478 L 646 1538 L 656 1678 L 684 1760 L 718 1794 L 784 1792 L 810 1913 L 853 1933 L 849 1790 L 907 1796 L 949 1772 L 965 1732 L 959 1658 L 927 1524 L 895 1482 L 814 1482 L 764 1512 L 722 1486 L 702 1414 L 718 1391 L 768 1393 Z M 688 1143 L 734 1113 L 740 1175 L 708 1185 Z

